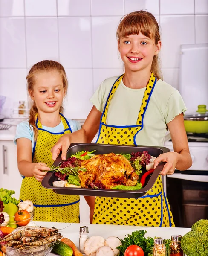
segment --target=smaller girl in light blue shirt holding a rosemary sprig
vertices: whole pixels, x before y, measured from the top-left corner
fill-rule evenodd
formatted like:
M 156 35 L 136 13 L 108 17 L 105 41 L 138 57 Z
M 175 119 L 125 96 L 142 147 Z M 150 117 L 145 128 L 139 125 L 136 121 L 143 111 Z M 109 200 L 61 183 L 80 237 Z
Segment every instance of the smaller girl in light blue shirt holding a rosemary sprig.
M 29 121 L 17 125 L 18 169 L 23 175 L 20 200 L 35 206 L 35 221 L 79 222 L 79 196 L 58 195 L 41 186 L 52 166 L 52 146 L 63 136 L 80 129 L 78 122 L 66 119 L 62 102 L 68 81 L 64 67 L 55 61 L 36 63 L 27 75 L 27 90 L 33 101 Z

